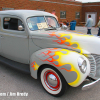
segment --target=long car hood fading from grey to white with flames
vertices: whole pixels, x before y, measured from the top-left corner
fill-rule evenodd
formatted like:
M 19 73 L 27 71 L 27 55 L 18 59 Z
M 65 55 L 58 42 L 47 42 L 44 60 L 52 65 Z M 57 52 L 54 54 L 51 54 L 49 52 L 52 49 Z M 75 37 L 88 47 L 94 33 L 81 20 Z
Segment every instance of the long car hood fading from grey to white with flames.
M 41 48 L 66 48 L 79 53 L 100 54 L 100 38 L 71 31 L 32 32 L 31 38 Z

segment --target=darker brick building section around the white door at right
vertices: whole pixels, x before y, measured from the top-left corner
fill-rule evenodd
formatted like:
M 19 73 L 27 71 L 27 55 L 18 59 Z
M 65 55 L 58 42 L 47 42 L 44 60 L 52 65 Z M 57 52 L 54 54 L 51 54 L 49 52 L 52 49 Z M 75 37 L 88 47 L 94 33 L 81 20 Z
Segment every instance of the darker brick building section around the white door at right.
M 82 5 L 82 21 L 87 20 L 88 14 L 91 14 L 94 20 L 94 26 L 99 21 L 100 16 L 100 2 L 83 3 Z

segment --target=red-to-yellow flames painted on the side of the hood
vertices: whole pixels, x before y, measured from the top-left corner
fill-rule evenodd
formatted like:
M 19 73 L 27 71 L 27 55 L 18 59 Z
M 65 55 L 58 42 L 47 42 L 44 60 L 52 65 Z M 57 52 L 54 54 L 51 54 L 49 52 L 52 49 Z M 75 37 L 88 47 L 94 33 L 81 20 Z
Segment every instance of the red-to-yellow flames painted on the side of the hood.
M 65 45 L 66 47 L 70 47 L 72 50 L 78 51 L 79 53 L 83 53 L 82 47 L 79 42 L 73 42 L 72 39 L 74 36 L 78 37 L 91 37 L 89 35 L 80 35 L 80 34 L 66 34 L 66 33 L 56 33 L 50 32 L 49 37 L 56 37 L 57 40 L 52 40 L 53 42 L 58 43 L 59 45 Z M 65 47 L 65 48 L 66 48 Z

